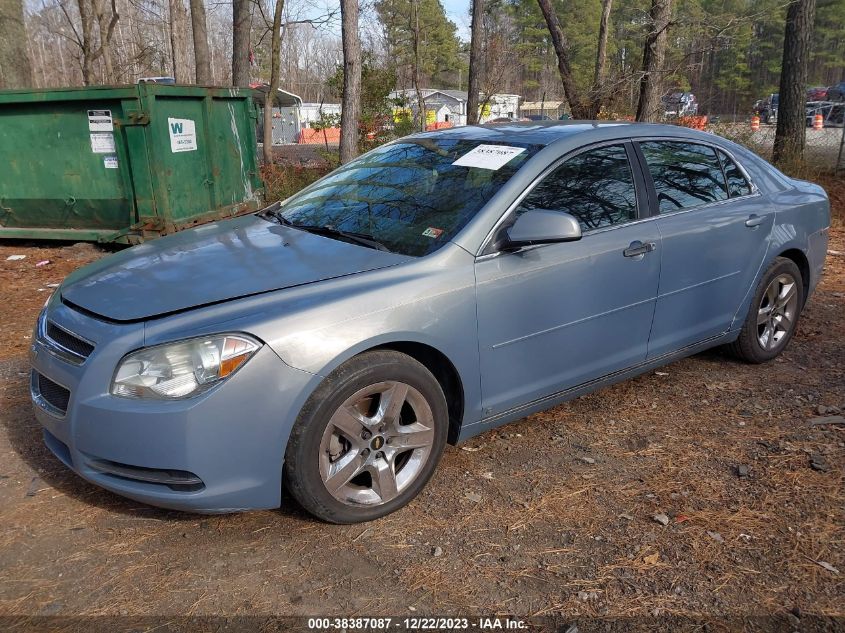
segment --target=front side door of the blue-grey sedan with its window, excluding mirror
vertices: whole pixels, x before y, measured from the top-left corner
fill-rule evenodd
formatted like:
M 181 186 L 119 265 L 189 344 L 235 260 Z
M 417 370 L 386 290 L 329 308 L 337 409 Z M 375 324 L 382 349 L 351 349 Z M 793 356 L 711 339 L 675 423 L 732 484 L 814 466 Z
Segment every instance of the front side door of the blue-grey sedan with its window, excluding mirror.
M 476 260 L 485 418 L 645 361 L 660 237 L 653 221 L 637 221 L 647 204 L 632 156 L 627 143 L 583 150 L 514 212 L 570 213 L 580 240 Z

